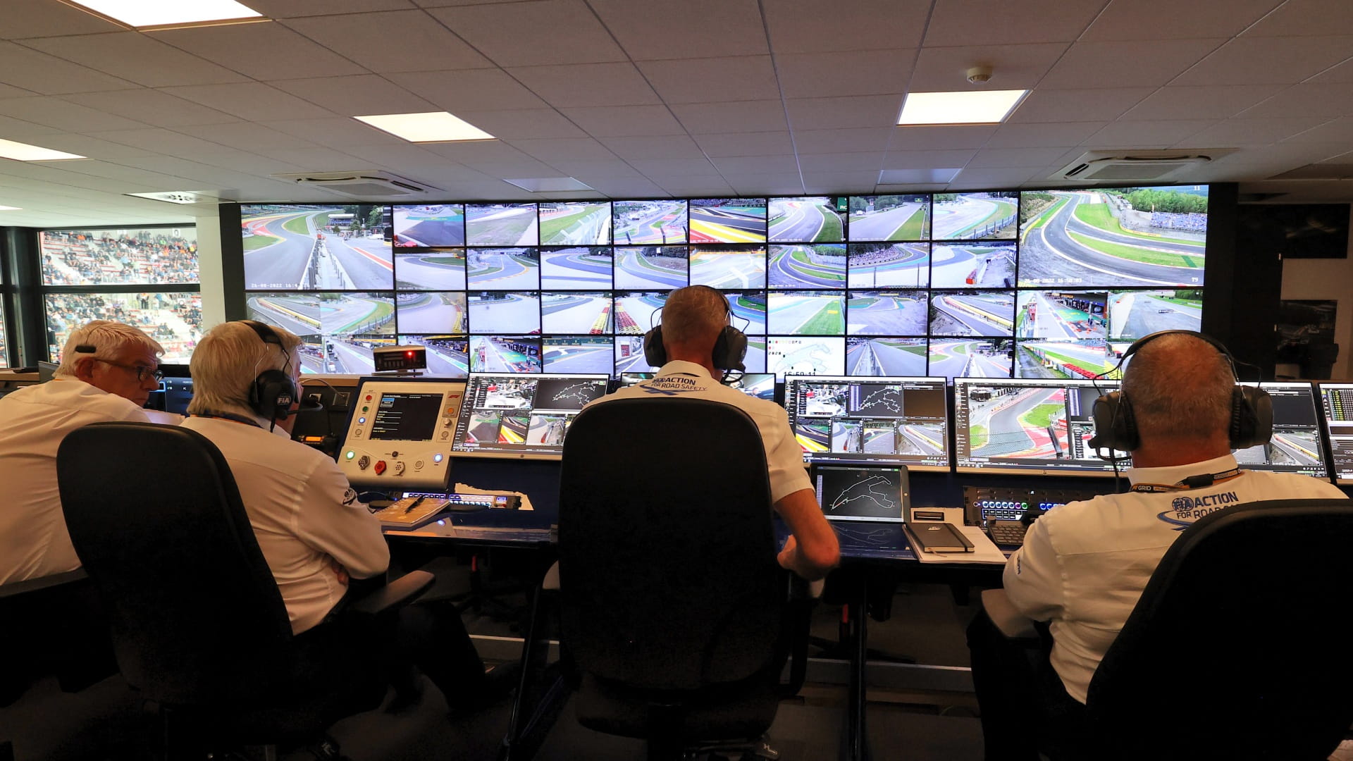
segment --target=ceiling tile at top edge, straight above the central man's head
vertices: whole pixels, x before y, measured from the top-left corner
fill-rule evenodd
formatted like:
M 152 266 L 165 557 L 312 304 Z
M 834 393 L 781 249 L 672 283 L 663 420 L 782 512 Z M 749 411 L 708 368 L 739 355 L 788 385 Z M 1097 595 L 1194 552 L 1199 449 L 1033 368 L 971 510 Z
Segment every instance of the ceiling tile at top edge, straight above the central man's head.
M 635 61 L 770 53 L 756 0 L 683 0 L 679 7 L 590 0 L 590 5 Z

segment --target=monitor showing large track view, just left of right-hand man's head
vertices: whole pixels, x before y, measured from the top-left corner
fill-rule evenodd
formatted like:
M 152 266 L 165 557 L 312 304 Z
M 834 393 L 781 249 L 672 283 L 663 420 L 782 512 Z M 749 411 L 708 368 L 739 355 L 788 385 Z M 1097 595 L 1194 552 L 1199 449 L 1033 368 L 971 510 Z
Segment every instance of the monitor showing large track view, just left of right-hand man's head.
M 1107 379 L 955 378 L 955 471 L 1112 475 L 1112 463 L 1089 445 L 1091 410 L 1118 386 Z

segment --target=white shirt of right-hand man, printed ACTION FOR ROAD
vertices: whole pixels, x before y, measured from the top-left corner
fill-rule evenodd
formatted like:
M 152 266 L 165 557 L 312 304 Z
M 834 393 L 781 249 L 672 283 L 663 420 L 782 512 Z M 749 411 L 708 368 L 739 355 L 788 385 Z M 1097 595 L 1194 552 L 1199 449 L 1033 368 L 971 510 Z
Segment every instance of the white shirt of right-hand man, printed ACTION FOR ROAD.
M 1173 485 L 1235 467 L 1226 455 L 1174 467 L 1134 467 L 1132 483 Z M 1070 502 L 1038 519 L 1005 563 L 1005 593 L 1026 616 L 1051 622 L 1053 668 L 1085 703 L 1091 677 L 1114 643 L 1165 550 L 1207 513 L 1260 500 L 1335 498 L 1327 481 L 1246 470 L 1201 489 L 1108 494 Z

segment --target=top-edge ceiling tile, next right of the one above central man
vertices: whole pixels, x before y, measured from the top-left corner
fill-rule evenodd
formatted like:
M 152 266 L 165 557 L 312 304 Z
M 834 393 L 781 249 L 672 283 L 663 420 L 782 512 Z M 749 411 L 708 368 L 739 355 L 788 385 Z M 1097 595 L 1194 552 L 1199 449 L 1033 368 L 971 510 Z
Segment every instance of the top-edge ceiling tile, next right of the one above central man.
M 764 0 L 775 54 L 916 47 L 928 3 L 897 0 Z

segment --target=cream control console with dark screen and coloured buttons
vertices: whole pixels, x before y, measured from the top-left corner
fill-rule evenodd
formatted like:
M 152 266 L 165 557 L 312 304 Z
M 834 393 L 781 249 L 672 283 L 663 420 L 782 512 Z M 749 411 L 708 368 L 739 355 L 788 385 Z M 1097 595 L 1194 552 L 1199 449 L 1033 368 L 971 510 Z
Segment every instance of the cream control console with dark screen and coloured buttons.
M 391 492 L 445 492 L 464 393 L 464 383 L 440 378 L 360 379 L 338 448 L 338 467 L 348 482 Z

